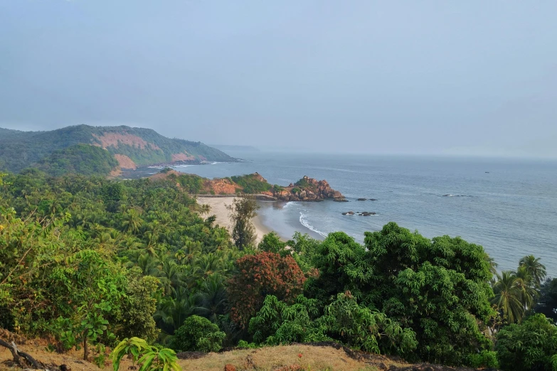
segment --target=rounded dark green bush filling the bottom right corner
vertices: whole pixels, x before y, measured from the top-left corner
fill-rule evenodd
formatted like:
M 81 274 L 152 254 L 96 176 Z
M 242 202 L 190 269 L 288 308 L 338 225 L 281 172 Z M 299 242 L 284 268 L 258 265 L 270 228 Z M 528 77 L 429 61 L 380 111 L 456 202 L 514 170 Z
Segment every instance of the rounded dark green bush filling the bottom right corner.
M 557 328 L 536 314 L 499 331 L 495 350 L 504 370 L 556 371 Z

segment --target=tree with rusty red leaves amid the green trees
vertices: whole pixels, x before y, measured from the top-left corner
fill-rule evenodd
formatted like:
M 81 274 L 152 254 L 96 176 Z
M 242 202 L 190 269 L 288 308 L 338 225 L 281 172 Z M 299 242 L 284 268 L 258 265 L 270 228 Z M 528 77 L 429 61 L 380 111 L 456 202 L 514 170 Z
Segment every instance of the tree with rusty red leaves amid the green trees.
M 265 296 L 293 302 L 302 294 L 305 276 L 295 259 L 274 252 L 246 255 L 236 261 L 238 273 L 228 281 L 228 301 L 233 321 L 245 327 L 263 306 Z

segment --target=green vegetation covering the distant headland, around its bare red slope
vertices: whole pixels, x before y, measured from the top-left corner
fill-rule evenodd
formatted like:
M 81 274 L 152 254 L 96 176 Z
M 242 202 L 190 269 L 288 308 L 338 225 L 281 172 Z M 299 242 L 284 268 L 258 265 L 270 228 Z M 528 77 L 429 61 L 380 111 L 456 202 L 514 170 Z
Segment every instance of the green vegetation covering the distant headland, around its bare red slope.
M 187 152 L 198 160 L 235 161 L 218 149 L 201 142 L 169 139 L 152 129 L 132 127 L 90 127 L 78 125 L 53 131 L 18 131 L 0 128 L 0 171 L 18 172 L 38 163 L 54 151 L 76 144 L 100 144 L 98 136 L 103 134 L 131 134 L 153 144 L 144 147 L 118 144 L 109 146 L 111 154 L 124 154 L 138 166 L 154 163 L 170 163 L 172 154 Z

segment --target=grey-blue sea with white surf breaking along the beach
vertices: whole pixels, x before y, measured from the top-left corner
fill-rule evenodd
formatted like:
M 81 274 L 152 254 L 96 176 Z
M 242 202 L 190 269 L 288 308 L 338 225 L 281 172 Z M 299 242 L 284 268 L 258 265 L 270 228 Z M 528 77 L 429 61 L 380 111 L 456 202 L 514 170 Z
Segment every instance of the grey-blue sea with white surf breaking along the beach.
M 499 270 L 534 254 L 557 276 L 557 161 L 228 151 L 240 163 L 176 167 L 206 178 L 258 172 L 272 184 L 326 179 L 350 201 L 262 202 L 262 224 L 282 237 L 344 231 L 363 242 L 387 222 L 425 237 L 481 244 Z M 376 201 L 357 201 L 376 198 Z M 341 215 L 369 211 L 377 215 Z

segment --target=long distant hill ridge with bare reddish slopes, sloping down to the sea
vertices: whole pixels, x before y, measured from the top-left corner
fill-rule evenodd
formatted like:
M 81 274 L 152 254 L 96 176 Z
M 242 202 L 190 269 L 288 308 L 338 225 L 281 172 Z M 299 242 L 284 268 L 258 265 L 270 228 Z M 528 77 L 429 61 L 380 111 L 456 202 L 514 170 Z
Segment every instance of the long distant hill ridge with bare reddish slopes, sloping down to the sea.
M 224 152 L 199 141 L 166 138 L 153 129 L 77 125 L 52 131 L 0 128 L 0 170 L 16 173 L 38 163 L 44 164 L 43 160 L 55 151 L 79 144 L 107 150 L 118 161 L 120 168 L 134 169 L 140 166 L 202 161 L 236 161 Z M 75 158 L 79 157 L 76 155 L 79 150 L 76 148 L 70 151 L 74 162 Z M 56 158 L 60 160 L 59 155 Z M 61 161 L 64 163 L 63 158 Z

